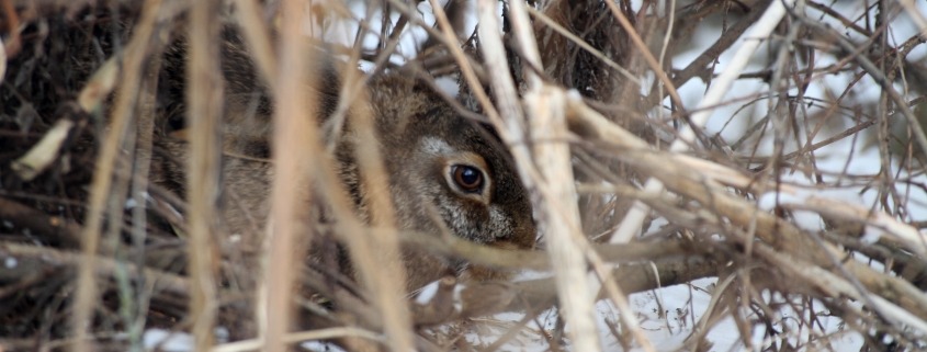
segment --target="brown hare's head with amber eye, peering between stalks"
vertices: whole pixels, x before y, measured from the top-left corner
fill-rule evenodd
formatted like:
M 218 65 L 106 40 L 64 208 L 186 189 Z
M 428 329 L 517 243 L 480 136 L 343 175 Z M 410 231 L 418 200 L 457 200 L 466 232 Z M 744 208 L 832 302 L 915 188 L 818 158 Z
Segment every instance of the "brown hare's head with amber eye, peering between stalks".
M 404 78 L 375 78 L 370 96 L 400 229 L 446 230 L 500 248 L 534 246 L 528 194 L 487 128 Z

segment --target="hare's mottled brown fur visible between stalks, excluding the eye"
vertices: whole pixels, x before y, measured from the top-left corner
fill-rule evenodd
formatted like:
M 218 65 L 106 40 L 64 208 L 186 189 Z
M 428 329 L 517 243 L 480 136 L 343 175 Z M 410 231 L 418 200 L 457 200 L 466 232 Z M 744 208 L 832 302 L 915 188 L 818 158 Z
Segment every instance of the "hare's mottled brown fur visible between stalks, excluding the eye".
M 228 35 L 227 35 L 228 36 Z M 223 160 L 223 224 L 230 234 L 251 234 L 260 238 L 269 211 L 272 167 L 267 162 L 270 154 L 272 114 L 271 99 L 257 84 L 258 80 L 250 59 L 234 36 L 223 50 L 223 72 L 226 83 L 226 116 Z M 167 63 L 182 67 L 183 43 L 174 45 Z M 332 65 L 312 65 L 321 84 L 321 113 L 318 123 L 324 124 L 337 102 L 340 84 L 332 73 Z M 165 121 L 178 121 L 183 106 L 182 72 L 166 77 L 173 106 L 162 116 Z M 373 77 L 368 87 L 370 110 L 373 113 L 378 135 L 377 145 L 388 172 L 389 194 L 395 207 L 396 226 L 400 230 L 414 230 L 439 236 L 448 230 L 457 237 L 502 248 L 531 248 L 534 245 L 535 227 L 527 193 L 513 172 L 504 148 L 493 140 L 491 134 L 482 126 L 454 113 L 452 107 L 434 92 L 416 81 L 397 75 L 383 73 Z M 171 105 L 174 104 L 174 105 Z M 182 120 L 182 118 L 180 118 Z M 348 122 L 351 118 L 347 120 Z M 162 123 L 161 125 L 169 125 Z M 169 128 L 168 128 L 169 129 Z M 365 188 L 360 182 L 354 162 L 355 135 L 351 125 L 343 126 L 339 134 L 336 160 L 338 174 L 344 189 L 354 200 L 358 215 L 366 218 Z M 177 159 L 183 159 L 182 143 L 162 144 Z M 489 179 L 484 197 L 461 194 L 445 177 L 448 162 L 457 158 L 467 161 L 482 158 Z M 467 159 L 471 158 L 471 159 Z M 177 166 L 160 167 L 155 179 L 174 188 L 182 188 L 182 172 Z M 299 196 L 298 192 L 296 195 Z M 308 200 L 307 200 L 308 201 Z M 486 204 L 488 201 L 488 205 Z M 307 214 L 307 222 L 318 222 L 318 214 Z M 440 219 L 437 220 L 437 219 Z M 258 243 L 252 242 L 252 243 Z M 314 251 L 315 257 L 324 250 Z M 343 262 L 342 254 L 339 261 Z M 464 271 L 465 263 L 450 261 L 411 248 L 405 249 L 409 282 L 415 289 L 449 271 L 464 273 L 477 280 L 504 277 L 505 273 L 475 268 Z M 318 258 L 316 258 L 318 259 Z M 349 270 L 350 271 L 350 270 Z

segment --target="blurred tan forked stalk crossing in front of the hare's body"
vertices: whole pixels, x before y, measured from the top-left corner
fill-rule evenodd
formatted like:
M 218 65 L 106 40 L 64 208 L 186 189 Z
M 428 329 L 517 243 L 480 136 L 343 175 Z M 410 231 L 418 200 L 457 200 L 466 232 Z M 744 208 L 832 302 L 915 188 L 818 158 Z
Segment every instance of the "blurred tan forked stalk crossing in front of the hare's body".
M 285 13 L 304 13 L 303 3 L 299 1 L 289 2 L 285 9 Z M 312 121 L 309 116 L 302 116 L 305 112 L 318 111 L 317 105 L 310 103 L 307 106 L 304 104 L 305 96 L 312 95 L 307 94 L 307 91 L 310 90 L 306 90 L 306 87 L 302 82 L 315 81 L 308 78 L 314 72 L 301 73 L 303 71 L 302 67 L 305 66 L 303 63 L 305 60 L 313 60 L 312 54 L 308 57 L 306 54 L 312 53 L 312 50 L 301 49 L 303 47 L 301 43 L 305 39 L 302 38 L 299 27 L 302 23 L 305 23 L 305 20 L 303 16 L 294 16 L 285 23 L 290 26 L 284 26 L 282 31 L 283 42 L 281 45 L 284 48 L 290 45 L 292 48 L 287 52 L 290 56 L 283 56 L 284 59 L 289 60 L 281 63 L 282 76 L 280 77 L 280 82 L 283 86 L 276 89 L 279 94 L 278 112 L 280 116 L 276 126 L 280 126 L 280 129 L 275 129 L 281 135 L 274 140 L 278 143 L 275 150 L 281 150 L 278 154 L 280 159 L 275 163 L 278 166 L 286 166 L 282 167 L 280 171 L 285 170 L 287 172 L 279 171 L 276 173 L 274 200 L 279 201 L 280 203 L 275 204 L 280 205 L 274 207 L 272 214 L 289 215 L 276 218 L 273 224 L 275 230 L 281 231 L 278 234 L 292 235 L 286 237 L 286 239 L 282 236 L 274 236 L 272 238 L 270 253 L 274 254 L 271 257 L 270 266 L 272 269 L 268 274 L 270 277 L 295 277 L 283 275 L 283 273 L 293 270 L 293 268 L 298 268 L 298 265 L 292 260 L 286 260 L 289 257 L 282 257 L 279 253 L 284 250 L 290 254 L 301 252 L 299 250 L 293 251 L 294 247 L 292 243 L 295 241 L 293 236 L 295 234 L 304 234 L 306 229 L 303 228 L 299 231 L 297 230 L 298 227 L 287 227 L 291 226 L 289 224 L 299 223 L 297 214 L 308 213 L 308 209 L 304 208 L 305 204 L 299 204 L 301 200 L 307 198 L 308 196 L 293 197 L 292 190 L 303 189 L 305 185 L 312 184 L 304 175 L 308 170 L 315 169 L 312 174 L 317 178 L 317 182 L 320 185 L 318 189 L 325 190 L 327 193 L 325 194 L 325 198 L 332 204 L 334 214 L 342 226 L 339 234 L 344 236 L 346 242 L 351 248 L 351 258 L 360 272 L 360 277 L 370 292 L 376 293 L 372 298 L 374 298 L 375 307 L 381 313 L 378 316 L 382 317 L 382 320 L 369 322 L 385 329 L 388 337 L 386 341 L 394 350 L 411 350 L 414 345 L 412 336 L 409 330 L 411 323 L 400 294 L 405 275 L 400 265 L 398 240 L 393 231 L 383 231 L 377 234 L 378 236 L 371 236 L 371 231 L 365 229 L 360 224 L 360 220 L 353 216 L 352 211 L 350 211 L 350 201 L 344 197 L 346 192 L 339 182 L 336 181 L 337 177 L 332 173 L 332 170 L 335 170 L 332 160 L 328 160 L 321 154 L 320 143 L 315 137 L 318 134 L 317 128 L 309 123 Z M 349 81 L 351 78 L 351 75 L 346 75 L 344 91 L 350 91 L 351 87 L 357 87 L 355 81 Z M 347 101 L 347 98 L 344 100 Z M 315 98 L 310 98 L 309 101 L 315 101 Z M 360 140 L 368 141 L 360 144 L 357 154 L 360 160 L 360 168 L 363 171 L 362 174 L 366 175 L 363 182 L 368 183 L 371 189 L 376 190 L 369 194 L 371 208 L 373 209 L 371 214 L 372 223 L 375 226 L 388 228 L 394 223 L 391 209 L 392 204 L 389 204 L 388 194 L 384 193 L 388 190 L 383 183 L 385 180 L 378 177 L 372 177 L 385 174 L 385 172 L 380 161 L 377 146 L 370 143 L 375 140 L 375 136 L 370 112 L 363 107 L 364 102 L 364 99 L 353 102 L 353 105 L 358 106 L 352 114 L 353 126 L 358 130 Z M 283 123 L 284 121 L 285 123 Z M 304 155 L 321 156 L 321 160 L 309 162 L 309 160 L 303 157 Z M 313 164 L 315 167 L 310 167 Z M 292 285 L 292 281 L 290 282 L 291 284 L 286 284 L 286 286 L 283 286 L 282 283 L 269 285 L 268 289 L 270 293 L 289 293 L 291 292 L 289 287 Z M 292 309 L 289 306 L 285 308 L 283 306 L 283 303 L 291 302 L 289 295 L 270 297 L 270 299 L 273 305 L 278 305 L 278 314 L 284 313 L 282 309 L 287 309 L 286 311 Z M 273 325 L 274 321 L 285 321 L 285 319 L 282 319 L 284 317 L 283 315 L 271 314 L 268 317 L 268 322 Z M 280 333 L 285 331 L 286 329 L 280 327 L 268 329 L 269 333 L 278 334 L 275 339 L 269 339 L 272 347 L 274 345 L 273 342 L 281 341 L 282 336 Z

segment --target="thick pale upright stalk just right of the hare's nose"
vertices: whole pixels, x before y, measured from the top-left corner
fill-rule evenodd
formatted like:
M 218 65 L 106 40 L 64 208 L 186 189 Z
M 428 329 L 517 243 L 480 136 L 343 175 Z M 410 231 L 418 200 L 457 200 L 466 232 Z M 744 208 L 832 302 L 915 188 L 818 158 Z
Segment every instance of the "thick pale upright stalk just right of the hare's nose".
M 489 7 L 486 7 L 489 8 Z M 512 22 L 516 30 L 519 45 L 527 64 L 531 67 L 541 67 L 541 58 L 538 54 L 538 46 L 533 33 L 529 32 L 527 14 L 521 3 L 515 5 Z M 488 11 L 484 11 L 488 12 Z M 483 16 L 483 24 L 493 23 L 495 19 L 488 15 Z M 482 27 L 482 26 L 481 26 Z M 484 55 L 487 64 L 505 63 L 501 42 L 497 41 L 495 33 L 498 27 L 489 26 L 484 34 Z M 493 31 L 495 30 L 495 31 Z M 490 32 L 491 31 L 491 32 Z M 488 43 L 496 43 L 489 46 Z M 495 50 L 494 50 L 495 48 Z M 491 65 L 491 64 L 490 64 Z M 504 67 L 497 66 L 491 70 L 495 77 L 505 77 Z M 501 75 L 501 76 L 500 76 Z M 532 71 L 525 71 L 525 81 L 529 84 L 524 93 L 524 106 L 532 117 L 525 125 L 509 123 L 510 133 L 516 136 L 530 136 L 529 144 L 533 147 L 531 156 L 533 162 L 527 158 L 518 158 L 516 162 L 520 169 L 538 169 L 536 178 L 531 179 L 533 190 L 538 192 L 533 197 L 535 209 L 539 211 L 536 220 L 540 224 L 542 236 L 546 240 L 547 254 L 554 268 L 554 277 L 557 282 L 557 292 L 561 309 L 570 325 L 570 338 L 576 349 L 580 351 L 601 351 L 601 345 L 596 332 L 595 308 L 591 293 L 591 277 L 586 270 L 586 258 L 584 243 L 586 239 L 580 236 L 579 213 L 576 204 L 572 202 L 576 197 L 574 186 L 573 169 L 569 166 L 569 147 L 565 143 L 566 116 L 565 99 L 559 92 L 544 84 Z M 517 104 L 515 91 L 510 90 L 509 96 L 497 96 L 498 102 L 510 101 L 508 104 Z M 521 118 L 521 115 L 509 115 L 510 120 Z M 527 129 L 515 129 L 515 128 Z M 523 172 L 527 173 L 527 172 Z

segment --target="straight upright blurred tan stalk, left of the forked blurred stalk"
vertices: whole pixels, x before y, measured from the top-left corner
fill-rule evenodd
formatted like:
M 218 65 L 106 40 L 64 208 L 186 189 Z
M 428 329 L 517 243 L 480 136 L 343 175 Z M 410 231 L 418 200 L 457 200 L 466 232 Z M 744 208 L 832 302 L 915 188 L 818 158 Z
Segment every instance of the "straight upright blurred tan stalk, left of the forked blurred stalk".
M 218 302 L 216 276 L 216 209 L 219 197 L 222 166 L 221 118 L 223 113 L 223 77 L 219 71 L 219 32 L 216 15 L 221 1 L 203 0 L 190 11 L 190 56 L 186 79 L 190 128 L 190 191 L 189 272 L 193 283 L 190 292 L 191 332 L 194 349 L 205 351 L 215 343 L 214 329 Z

